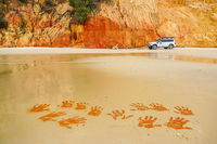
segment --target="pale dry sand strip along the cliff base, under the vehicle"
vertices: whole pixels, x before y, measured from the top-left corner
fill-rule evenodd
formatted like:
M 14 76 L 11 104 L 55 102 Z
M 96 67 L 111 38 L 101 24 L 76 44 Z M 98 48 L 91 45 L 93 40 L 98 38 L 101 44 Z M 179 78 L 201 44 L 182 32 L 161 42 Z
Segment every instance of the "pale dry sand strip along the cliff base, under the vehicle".
M 175 48 L 173 50 L 146 48 L 138 49 L 80 49 L 80 48 L 2 48 L 0 55 L 24 55 L 24 54 L 132 54 L 132 53 L 162 53 L 189 55 L 200 57 L 217 57 L 216 48 Z

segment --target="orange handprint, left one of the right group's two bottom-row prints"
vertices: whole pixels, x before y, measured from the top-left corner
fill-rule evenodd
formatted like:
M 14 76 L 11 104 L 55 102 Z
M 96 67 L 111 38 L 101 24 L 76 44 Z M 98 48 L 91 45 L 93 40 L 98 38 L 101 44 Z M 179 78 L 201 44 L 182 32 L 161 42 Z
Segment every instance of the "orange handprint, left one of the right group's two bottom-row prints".
M 156 117 L 153 116 L 145 116 L 144 118 L 139 117 L 139 127 L 144 127 L 144 128 L 154 128 L 154 127 L 161 127 L 161 125 L 153 125 L 156 121 Z

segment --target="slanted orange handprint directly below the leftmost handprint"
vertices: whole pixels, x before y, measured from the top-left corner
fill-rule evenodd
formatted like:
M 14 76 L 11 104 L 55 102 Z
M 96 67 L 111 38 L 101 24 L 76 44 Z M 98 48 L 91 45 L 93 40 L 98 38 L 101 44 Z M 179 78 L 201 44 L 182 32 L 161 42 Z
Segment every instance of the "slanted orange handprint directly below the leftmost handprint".
M 44 115 L 42 117 L 39 117 L 39 119 L 42 120 L 42 121 L 56 121 L 53 118 L 56 118 L 56 117 L 60 117 L 60 116 L 64 116 L 64 115 L 66 115 L 65 112 L 53 112 L 53 113 L 50 113 L 50 114 Z

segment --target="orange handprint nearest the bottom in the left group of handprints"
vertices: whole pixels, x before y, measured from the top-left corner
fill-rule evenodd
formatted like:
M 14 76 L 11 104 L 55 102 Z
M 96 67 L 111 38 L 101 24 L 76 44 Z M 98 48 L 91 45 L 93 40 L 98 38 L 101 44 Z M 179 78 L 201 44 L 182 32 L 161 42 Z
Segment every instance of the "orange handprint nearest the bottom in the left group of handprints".
M 59 125 L 61 127 L 65 127 L 65 128 L 68 128 L 68 129 L 72 129 L 72 125 L 80 125 L 80 123 L 86 123 L 86 118 L 84 117 L 73 117 L 73 118 L 67 118 L 67 119 L 62 119 L 59 122 Z

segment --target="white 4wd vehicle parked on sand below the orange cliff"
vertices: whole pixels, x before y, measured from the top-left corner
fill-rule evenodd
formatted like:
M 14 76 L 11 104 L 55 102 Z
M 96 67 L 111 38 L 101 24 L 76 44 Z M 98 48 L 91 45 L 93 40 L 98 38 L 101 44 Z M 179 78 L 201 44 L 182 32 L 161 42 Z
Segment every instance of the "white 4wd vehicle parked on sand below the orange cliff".
M 149 42 L 148 47 L 150 50 L 156 50 L 159 47 L 164 49 L 173 49 L 176 47 L 176 42 L 174 37 L 163 37 L 159 38 L 157 41 Z

